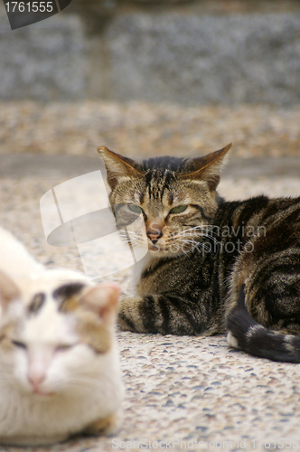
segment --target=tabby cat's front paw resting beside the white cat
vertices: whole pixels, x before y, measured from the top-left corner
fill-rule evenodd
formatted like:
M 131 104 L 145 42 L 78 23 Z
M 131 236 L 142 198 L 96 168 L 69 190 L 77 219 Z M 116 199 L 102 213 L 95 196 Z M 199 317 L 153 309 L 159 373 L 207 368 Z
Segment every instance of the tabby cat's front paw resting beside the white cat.
M 117 312 L 117 323 L 121 330 L 145 333 L 145 327 L 139 308 L 142 302 L 142 297 L 126 297 L 120 300 Z

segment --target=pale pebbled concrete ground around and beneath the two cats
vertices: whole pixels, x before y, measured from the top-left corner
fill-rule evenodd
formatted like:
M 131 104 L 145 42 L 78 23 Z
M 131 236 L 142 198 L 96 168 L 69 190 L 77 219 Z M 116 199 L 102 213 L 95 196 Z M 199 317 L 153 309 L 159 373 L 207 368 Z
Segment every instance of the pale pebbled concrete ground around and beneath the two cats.
M 0 156 L 1 224 L 48 266 L 82 269 L 76 248 L 46 243 L 39 202 L 44 193 L 100 168 L 99 160 L 68 155 Z M 300 194 L 300 159 L 232 158 L 220 194 Z M 95 194 L 96 195 L 96 194 Z M 121 259 L 117 251 L 113 259 Z M 106 265 L 101 262 L 100 265 Z M 108 279 L 108 278 L 107 278 Z M 130 268 L 109 277 L 124 291 Z M 117 333 L 126 384 L 123 428 L 114 438 L 76 438 L 20 452 L 111 450 L 300 450 L 300 366 L 231 350 L 224 337 Z

